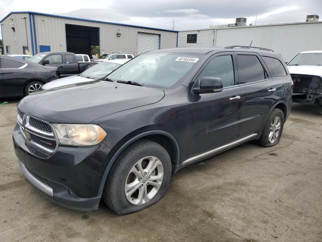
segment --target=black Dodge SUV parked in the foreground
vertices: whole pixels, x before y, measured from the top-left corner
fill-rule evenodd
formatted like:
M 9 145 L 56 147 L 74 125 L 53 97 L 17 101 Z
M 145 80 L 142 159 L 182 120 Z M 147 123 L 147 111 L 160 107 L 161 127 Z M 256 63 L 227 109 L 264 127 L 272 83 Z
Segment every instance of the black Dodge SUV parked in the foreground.
M 127 214 L 156 203 L 186 165 L 251 140 L 278 144 L 291 98 L 272 51 L 151 51 L 102 80 L 22 99 L 15 152 L 54 203 L 89 211 L 102 198 Z

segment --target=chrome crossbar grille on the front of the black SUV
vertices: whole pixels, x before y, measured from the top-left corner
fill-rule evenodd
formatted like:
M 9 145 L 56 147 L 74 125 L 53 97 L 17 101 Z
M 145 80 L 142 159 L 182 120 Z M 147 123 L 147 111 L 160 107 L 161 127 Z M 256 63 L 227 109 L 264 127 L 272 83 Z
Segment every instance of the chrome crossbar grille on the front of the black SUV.
M 32 146 L 53 153 L 58 143 L 51 125 L 18 109 L 17 122 L 25 140 Z

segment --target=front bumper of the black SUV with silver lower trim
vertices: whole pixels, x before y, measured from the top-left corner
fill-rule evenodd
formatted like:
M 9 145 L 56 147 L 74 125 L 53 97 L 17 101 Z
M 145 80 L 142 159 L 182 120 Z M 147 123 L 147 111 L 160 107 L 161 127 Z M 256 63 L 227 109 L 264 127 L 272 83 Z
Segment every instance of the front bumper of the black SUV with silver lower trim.
M 59 146 L 55 153 L 48 154 L 28 144 L 18 125 L 13 140 L 22 173 L 50 201 L 74 210 L 98 209 L 108 146 Z

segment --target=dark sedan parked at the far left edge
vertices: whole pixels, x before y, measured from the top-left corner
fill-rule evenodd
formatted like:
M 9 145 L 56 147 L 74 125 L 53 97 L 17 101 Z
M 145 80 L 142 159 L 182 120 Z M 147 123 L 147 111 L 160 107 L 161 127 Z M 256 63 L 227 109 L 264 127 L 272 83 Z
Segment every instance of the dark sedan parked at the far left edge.
M 58 78 L 57 68 L 0 55 L 0 98 L 27 96 Z

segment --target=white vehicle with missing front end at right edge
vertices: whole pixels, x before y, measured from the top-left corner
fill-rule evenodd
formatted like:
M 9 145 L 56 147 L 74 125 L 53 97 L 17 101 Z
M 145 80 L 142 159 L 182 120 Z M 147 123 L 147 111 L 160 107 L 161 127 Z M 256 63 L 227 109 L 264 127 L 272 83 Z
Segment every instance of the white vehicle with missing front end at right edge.
M 298 53 L 287 68 L 294 83 L 293 102 L 322 105 L 322 50 Z

